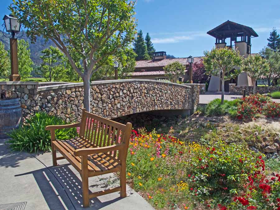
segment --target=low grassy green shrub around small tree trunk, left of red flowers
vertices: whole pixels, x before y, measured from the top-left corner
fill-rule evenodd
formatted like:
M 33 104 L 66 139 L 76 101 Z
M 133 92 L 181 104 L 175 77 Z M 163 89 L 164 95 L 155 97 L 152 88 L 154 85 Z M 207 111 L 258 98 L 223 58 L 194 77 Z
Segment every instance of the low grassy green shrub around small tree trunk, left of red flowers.
M 235 117 L 237 115 L 237 106 L 239 103 L 239 99 L 232 101 L 224 100 L 224 104 L 221 104 L 221 99 L 214 99 L 206 106 L 205 115 L 222 116 L 229 114 L 231 117 Z

